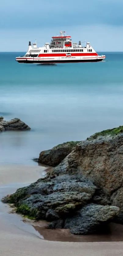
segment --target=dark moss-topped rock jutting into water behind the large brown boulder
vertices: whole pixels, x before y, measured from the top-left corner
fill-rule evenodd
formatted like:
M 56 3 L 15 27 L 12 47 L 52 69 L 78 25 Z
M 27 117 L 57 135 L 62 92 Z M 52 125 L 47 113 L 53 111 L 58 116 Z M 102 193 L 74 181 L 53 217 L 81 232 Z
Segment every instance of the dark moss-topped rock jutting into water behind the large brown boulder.
M 73 150 L 77 143 L 78 141 L 70 141 L 59 144 L 50 150 L 42 151 L 38 162 L 53 167 L 57 166 Z

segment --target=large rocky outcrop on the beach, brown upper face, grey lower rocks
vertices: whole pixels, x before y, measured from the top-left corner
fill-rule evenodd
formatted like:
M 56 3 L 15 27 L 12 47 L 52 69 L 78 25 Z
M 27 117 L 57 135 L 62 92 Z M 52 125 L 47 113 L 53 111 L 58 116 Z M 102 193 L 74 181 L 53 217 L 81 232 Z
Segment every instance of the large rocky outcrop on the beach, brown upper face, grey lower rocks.
M 109 221 L 123 224 L 122 127 L 80 141 L 45 178 L 3 200 L 74 234 L 101 231 Z

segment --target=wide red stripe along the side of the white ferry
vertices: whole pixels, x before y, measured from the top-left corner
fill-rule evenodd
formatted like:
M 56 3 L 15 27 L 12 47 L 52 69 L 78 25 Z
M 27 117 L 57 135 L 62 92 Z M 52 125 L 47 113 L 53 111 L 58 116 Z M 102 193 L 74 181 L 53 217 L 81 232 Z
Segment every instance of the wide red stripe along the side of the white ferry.
M 71 56 L 98 56 L 97 53 L 70 53 L 70 54 Z M 38 57 L 66 57 L 66 53 L 40 53 Z

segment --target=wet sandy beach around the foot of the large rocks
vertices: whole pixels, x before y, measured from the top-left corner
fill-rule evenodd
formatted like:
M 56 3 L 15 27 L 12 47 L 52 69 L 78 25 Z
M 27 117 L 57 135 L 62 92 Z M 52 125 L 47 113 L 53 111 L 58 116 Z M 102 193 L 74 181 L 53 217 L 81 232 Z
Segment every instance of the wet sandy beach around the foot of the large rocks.
M 0 166 L 0 198 L 43 177 L 45 172 L 46 168 L 42 166 Z M 69 230 L 45 229 L 45 221 L 23 221 L 20 215 L 9 213 L 10 210 L 0 203 L 1 256 L 123 255 L 123 242 L 119 242 L 123 241 L 122 225 L 112 223 L 107 234 L 74 236 Z

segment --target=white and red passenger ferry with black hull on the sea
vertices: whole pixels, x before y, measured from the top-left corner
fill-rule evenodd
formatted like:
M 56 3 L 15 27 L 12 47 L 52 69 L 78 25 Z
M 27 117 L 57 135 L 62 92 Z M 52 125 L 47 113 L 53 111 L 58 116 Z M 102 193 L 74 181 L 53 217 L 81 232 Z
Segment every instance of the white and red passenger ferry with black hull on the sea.
M 29 41 L 27 53 L 16 57 L 19 63 L 65 63 L 65 62 L 96 62 L 105 59 L 105 55 L 98 55 L 89 42 L 81 46 L 81 41 L 73 42 L 70 35 L 60 31 L 60 35 L 53 36 L 50 44 L 37 47 L 36 40 L 31 45 Z

